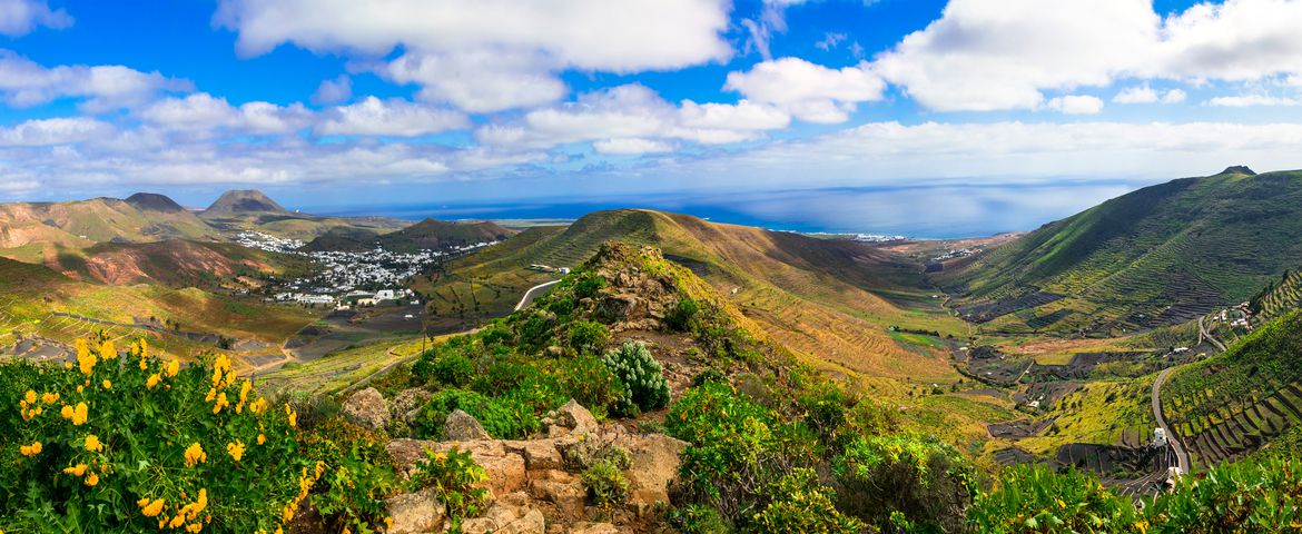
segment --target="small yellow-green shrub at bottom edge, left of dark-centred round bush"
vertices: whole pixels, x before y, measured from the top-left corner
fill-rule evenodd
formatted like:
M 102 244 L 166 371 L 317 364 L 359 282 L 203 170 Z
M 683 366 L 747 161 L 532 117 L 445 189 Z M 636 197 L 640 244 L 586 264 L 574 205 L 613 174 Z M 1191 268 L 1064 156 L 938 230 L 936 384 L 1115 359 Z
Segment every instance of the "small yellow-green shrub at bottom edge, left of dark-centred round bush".
M 773 534 L 858 534 L 865 525 L 836 509 L 836 494 L 812 469 L 799 468 L 772 485 L 773 501 L 755 514 L 754 530 Z

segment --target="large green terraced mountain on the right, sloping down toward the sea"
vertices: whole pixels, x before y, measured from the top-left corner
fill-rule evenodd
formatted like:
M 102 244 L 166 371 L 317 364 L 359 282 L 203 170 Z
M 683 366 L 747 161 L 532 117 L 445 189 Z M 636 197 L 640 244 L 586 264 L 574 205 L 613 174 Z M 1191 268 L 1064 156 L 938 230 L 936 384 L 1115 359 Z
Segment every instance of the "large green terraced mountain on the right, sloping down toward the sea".
M 1302 171 L 1144 188 L 932 279 L 991 332 L 1115 335 L 1247 301 L 1302 257 Z

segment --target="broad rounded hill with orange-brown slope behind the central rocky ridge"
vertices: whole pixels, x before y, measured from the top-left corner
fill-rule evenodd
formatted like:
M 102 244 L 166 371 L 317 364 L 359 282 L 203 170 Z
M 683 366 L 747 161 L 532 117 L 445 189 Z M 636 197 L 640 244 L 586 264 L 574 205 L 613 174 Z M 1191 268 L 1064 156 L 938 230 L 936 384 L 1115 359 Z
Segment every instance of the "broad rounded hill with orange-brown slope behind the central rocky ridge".
M 650 210 L 590 214 L 566 228 L 531 228 L 418 277 L 431 316 L 503 315 L 531 285 L 555 279 L 531 270 L 577 267 L 604 242 L 655 246 L 686 266 L 811 365 L 875 378 L 947 380 L 941 344 L 917 345 L 891 327 L 960 335 L 921 277 L 921 266 L 868 244 L 708 223 Z M 921 310 L 905 311 L 897 302 Z M 930 306 L 930 307 L 928 307 Z

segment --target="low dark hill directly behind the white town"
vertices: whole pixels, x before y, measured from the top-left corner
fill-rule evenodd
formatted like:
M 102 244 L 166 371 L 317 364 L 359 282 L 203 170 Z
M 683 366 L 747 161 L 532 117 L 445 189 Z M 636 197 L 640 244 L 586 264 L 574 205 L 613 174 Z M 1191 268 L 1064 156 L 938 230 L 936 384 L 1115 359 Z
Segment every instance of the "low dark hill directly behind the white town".
M 379 245 L 392 251 L 439 250 L 501 241 L 514 233 L 491 221 L 447 223 L 426 219 L 391 233 L 376 233 L 365 228 L 332 228 L 309 242 L 307 249 L 362 251 Z

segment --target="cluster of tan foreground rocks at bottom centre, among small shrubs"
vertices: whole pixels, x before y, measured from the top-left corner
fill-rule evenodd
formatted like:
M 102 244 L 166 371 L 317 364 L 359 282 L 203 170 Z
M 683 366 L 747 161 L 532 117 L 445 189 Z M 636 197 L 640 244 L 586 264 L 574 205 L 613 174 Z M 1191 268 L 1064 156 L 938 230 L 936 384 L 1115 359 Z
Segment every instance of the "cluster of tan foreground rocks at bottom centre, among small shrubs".
M 448 419 L 450 427 L 453 418 L 449 415 Z M 464 412 L 457 419 L 458 430 L 449 435 L 473 438 L 483 431 L 479 422 Z M 527 440 L 396 439 L 387 448 L 404 477 L 409 477 L 417 464 L 426 458 L 427 449 L 448 452 L 457 448 L 470 452 L 488 474 L 483 486 L 491 491 L 492 500 L 483 516 L 464 521 L 462 529 L 466 533 L 633 531 L 628 525 L 616 525 L 621 521 L 590 522 L 587 490 L 579 479 L 579 468 L 569 457 L 591 443 L 624 448 L 631 457 L 631 465 L 624 471 L 631 488 L 630 501 L 622 509 L 604 511 L 603 517 L 621 517 L 626 520 L 624 522 L 635 522 L 655 514 L 658 503 L 668 503 L 669 482 L 677 475 L 678 455 L 687 447 L 685 442 L 660 434 L 629 432 L 620 425 L 600 426 L 587 409 L 574 401 L 549 413 L 544 422 L 548 425 L 544 434 Z M 487 432 L 483 435 L 487 436 Z M 435 533 L 447 526 L 443 504 L 431 503 L 426 492 L 389 499 L 388 508 L 395 520 L 395 529 L 391 531 L 395 533 Z M 398 530 L 400 526 L 402 530 Z

